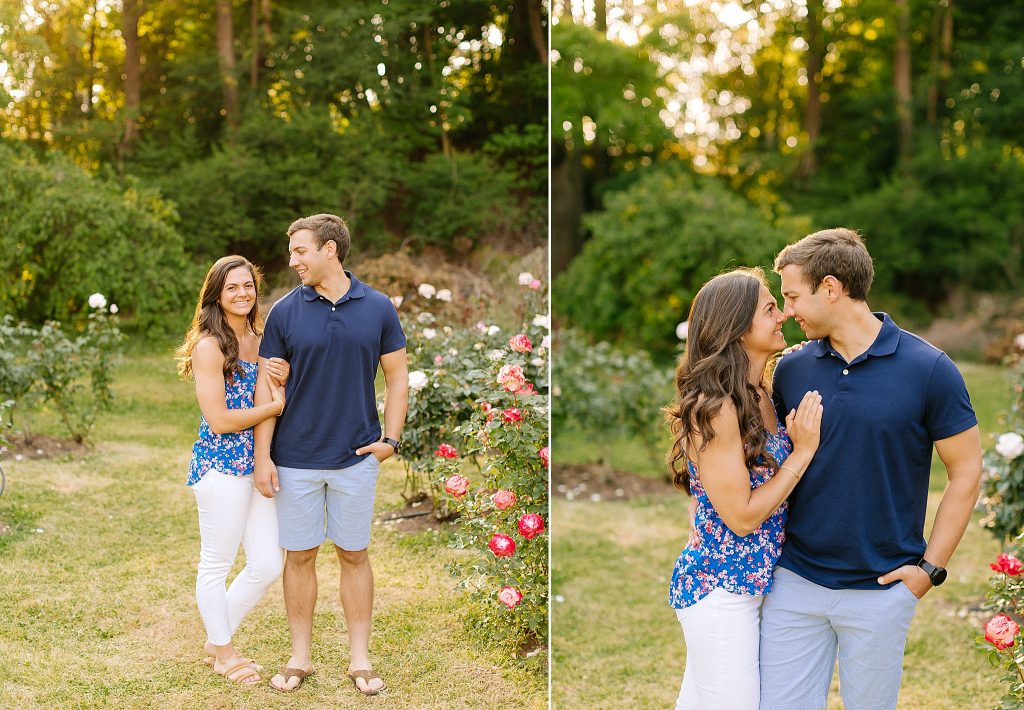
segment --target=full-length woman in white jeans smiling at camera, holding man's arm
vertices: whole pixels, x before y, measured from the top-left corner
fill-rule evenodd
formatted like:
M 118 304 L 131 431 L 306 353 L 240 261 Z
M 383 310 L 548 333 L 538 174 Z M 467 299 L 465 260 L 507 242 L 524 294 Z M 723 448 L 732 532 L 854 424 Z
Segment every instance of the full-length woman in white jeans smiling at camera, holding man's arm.
M 191 326 L 177 350 L 178 374 L 195 378 L 203 412 L 187 485 L 199 506 L 196 599 L 206 625 L 207 663 L 244 684 L 259 682 L 260 668 L 231 645 L 231 636 L 284 567 L 274 501 L 252 483 L 252 427 L 281 416 L 289 373 L 285 361 L 269 361 L 267 385 L 273 400 L 253 406 L 263 327 L 259 287 L 260 272 L 248 259 L 218 259 L 206 275 Z M 246 566 L 225 590 L 240 543 Z

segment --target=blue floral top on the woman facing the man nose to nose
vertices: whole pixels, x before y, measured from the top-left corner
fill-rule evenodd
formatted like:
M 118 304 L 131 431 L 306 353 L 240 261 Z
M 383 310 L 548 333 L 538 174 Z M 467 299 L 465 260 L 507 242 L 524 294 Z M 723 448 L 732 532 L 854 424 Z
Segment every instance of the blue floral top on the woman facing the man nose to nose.
M 779 426 L 778 433 L 766 431 L 767 449 L 781 465 L 793 452 L 793 442 Z M 750 535 L 739 537 L 722 521 L 711 504 L 700 474 L 687 460 L 690 472 L 690 493 L 697 501 L 696 547 L 687 545 L 676 559 L 669 588 L 669 603 L 674 609 L 686 609 L 721 587 L 733 594 L 767 594 L 771 591 L 771 573 L 782 552 L 785 540 L 787 503 L 783 503 L 768 519 Z M 767 463 L 759 462 L 750 469 L 751 490 L 767 483 L 773 475 Z

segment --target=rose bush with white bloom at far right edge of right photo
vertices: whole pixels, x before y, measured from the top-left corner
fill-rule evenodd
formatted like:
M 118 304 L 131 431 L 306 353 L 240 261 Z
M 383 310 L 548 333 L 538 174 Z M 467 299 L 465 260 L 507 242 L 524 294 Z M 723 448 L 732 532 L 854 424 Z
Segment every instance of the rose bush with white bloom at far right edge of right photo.
M 1024 436 L 1024 357 L 1013 353 L 1009 363 L 1014 386 L 1007 430 L 996 450 L 985 454 L 981 498 L 986 512 L 982 525 L 1002 541 L 1024 534 L 1024 452 L 1018 444 Z

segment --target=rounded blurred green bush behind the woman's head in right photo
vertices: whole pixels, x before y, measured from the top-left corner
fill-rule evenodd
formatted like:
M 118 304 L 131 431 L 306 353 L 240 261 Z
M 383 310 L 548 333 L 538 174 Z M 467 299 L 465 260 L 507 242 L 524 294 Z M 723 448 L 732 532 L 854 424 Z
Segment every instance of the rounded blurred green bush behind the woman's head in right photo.
M 765 265 L 787 235 L 714 178 L 647 171 L 588 216 L 593 236 L 555 283 L 560 316 L 665 362 L 676 325 L 711 277 Z

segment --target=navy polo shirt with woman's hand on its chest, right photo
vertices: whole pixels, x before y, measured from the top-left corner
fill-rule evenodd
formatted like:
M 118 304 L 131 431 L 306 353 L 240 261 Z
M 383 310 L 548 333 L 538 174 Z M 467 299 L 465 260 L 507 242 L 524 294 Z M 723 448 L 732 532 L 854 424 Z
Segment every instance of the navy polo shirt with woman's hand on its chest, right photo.
M 881 575 L 921 559 L 933 444 L 978 423 L 952 361 L 874 316 L 882 330 L 851 363 L 823 338 L 775 369 L 780 421 L 809 390 L 824 406 L 778 563 L 829 589 L 879 589 Z

